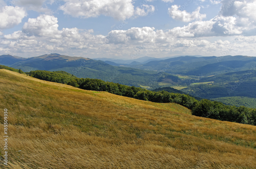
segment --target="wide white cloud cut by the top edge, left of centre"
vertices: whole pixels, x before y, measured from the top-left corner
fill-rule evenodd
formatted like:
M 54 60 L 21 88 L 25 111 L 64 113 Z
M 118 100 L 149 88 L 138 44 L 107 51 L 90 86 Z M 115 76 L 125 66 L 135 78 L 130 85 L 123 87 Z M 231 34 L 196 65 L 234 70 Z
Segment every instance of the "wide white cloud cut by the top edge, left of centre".
M 60 9 L 64 14 L 82 18 L 105 15 L 124 20 L 134 15 L 132 0 L 66 0 Z

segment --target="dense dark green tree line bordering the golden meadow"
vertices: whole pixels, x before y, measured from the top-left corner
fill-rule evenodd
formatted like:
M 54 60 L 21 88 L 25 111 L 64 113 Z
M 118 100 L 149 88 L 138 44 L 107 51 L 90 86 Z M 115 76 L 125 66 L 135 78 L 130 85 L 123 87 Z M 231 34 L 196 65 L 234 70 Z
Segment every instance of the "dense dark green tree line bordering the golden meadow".
M 35 70 L 27 74 L 41 80 L 68 84 L 84 90 L 106 91 L 116 95 L 157 103 L 177 103 L 190 109 L 192 115 L 195 116 L 256 125 L 256 109 L 245 106 L 230 106 L 207 99 L 198 101 L 187 94 L 169 93 L 164 90 L 150 91 L 100 79 L 77 78 L 64 71 Z

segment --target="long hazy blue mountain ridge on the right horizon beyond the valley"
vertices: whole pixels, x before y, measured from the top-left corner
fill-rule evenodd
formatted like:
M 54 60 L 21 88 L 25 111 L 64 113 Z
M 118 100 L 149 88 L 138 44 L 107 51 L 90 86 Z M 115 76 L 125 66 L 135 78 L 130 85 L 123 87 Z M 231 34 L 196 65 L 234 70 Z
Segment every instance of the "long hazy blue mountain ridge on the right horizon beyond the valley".
M 147 70 L 156 70 L 172 74 L 205 76 L 217 75 L 234 71 L 249 70 L 256 67 L 256 57 L 250 56 L 180 56 L 160 61 L 151 61 L 146 64 L 129 67 Z

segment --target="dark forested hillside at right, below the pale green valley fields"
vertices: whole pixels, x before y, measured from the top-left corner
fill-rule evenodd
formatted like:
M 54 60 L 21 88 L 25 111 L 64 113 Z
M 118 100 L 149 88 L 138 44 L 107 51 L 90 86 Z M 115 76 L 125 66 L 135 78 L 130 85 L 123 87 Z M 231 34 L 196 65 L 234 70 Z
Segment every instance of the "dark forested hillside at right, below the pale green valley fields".
M 233 96 L 256 98 L 256 70 L 231 72 L 204 77 L 197 82 L 210 82 L 211 85 L 191 85 L 182 91 L 193 96 L 214 99 Z

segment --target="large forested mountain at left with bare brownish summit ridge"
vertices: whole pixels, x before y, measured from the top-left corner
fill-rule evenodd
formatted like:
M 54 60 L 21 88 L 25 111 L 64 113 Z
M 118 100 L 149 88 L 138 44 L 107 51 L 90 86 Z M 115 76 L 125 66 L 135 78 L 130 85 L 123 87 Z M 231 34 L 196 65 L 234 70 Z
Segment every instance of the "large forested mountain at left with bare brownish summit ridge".
M 79 78 L 94 78 L 104 81 L 113 81 L 115 83 L 129 86 L 150 86 L 158 87 L 159 79 L 163 79 L 167 73 L 157 73 L 155 71 L 141 70 L 130 67 L 118 67 L 105 63 L 100 60 L 94 60 L 84 57 L 70 57 L 56 53 L 45 54 L 37 57 L 21 59 L 13 64 L 11 55 L 4 60 L 5 65 L 16 69 L 22 69 L 24 72 L 30 70 L 48 70 L 48 71 L 66 71 Z M 12 58 L 12 59 L 9 59 Z M 109 61 L 111 63 L 111 61 Z M 112 63 L 114 64 L 114 63 Z M 134 62 L 134 64 L 140 64 Z M 176 76 L 167 76 L 167 79 L 177 78 Z

